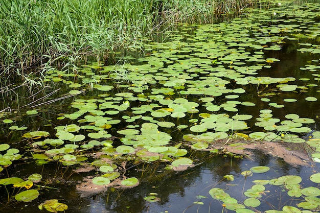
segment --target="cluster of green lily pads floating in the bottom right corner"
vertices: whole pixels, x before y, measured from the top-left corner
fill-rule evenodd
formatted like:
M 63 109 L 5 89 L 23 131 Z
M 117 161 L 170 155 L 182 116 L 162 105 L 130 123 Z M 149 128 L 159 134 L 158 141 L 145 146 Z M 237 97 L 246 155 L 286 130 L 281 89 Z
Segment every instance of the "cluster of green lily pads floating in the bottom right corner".
M 248 171 L 243 171 L 242 174 L 245 179 L 247 179 L 248 177 L 254 176 L 254 173 L 267 173 L 269 170 L 270 168 L 268 167 L 257 166 L 250 168 Z M 225 175 L 224 178 L 227 181 L 235 181 L 233 175 Z M 314 183 L 319 183 L 319 178 L 319 173 L 310 176 L 310 180 Z M 285 193 L 279 196 L 278 199 L 290 201 L 290 205 L 287 205 L 287 202 L 284 202 L 283 206 L 278 208 L 271 206 L 273 207 L 271 210 L 266 208 L 264 212 L 316 212 L 314 210 L 318 209 L 320 205 L 320 199 L 318 198 L 320 196 L 320 190 L 314 186 L 304 187 L 302 181 L 302 178 L 296 175 L 285 175 L 270 180 L 256 179 L 252 181 L 254 184 L 247 187 L 248 189 L 243 192 L 245 197 L 241 197 L 241 199 L 238 200 L 227 193 L 227 191 L 231 191 L 231 188 L 223 189 L 220 187 L 213 187 L 208 193 L 214 200 L 218 200 L 222 203 L 222 211 L 223 208 L 226 208 L 236 211 L 237 213 L 254 213 L 262 202 L 270 202 L 268 201 L 268 199 L 272 197 L 269 195 L 270 193 L 280 190 Z M 238 184 L 229 185 L 232 187 L 233 185 L 236 186 Z M 198 201 L 195 201 L 194 204 L 203 205 L 208 200 L 207 198 L 207 196 L 198 195 Z M 211 201 L 211 203 L 212 202 L 213 201 Z

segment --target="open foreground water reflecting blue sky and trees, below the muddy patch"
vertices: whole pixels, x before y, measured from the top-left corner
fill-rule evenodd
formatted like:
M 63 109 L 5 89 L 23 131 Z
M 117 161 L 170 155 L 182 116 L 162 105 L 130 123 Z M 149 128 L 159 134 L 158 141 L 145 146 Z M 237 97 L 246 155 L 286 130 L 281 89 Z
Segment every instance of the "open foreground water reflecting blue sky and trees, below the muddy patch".
M 270 170 L 262 174 L 253 174 L 246 179 L 240 173 L 256 165 L 267 165 Z M 222 203 L 209 195 L 209 190 L 219 187 L 242 203 L 247 197 L 243 195 L 254 183 L 253 180 L 270 180 L 284 175 L 299 175 L 303 181 L 302 187 L 317 186 L 309 180 L 309 176 L 319 170 L 318 167 L 292 167 L 282 159 L 256 152 L 253 160 L 221 158 L 216 156 L 208 159 L 195 168 L 184 172 L 171 172 L 161 179 L 142 182 L 138 187 L 126 191 L 107 192 L 86 200 L 88 206 L 79 212 L 221 212 Z M 223 179 L 224 175 L 234 175 L 234 181 Z M 259 210 L 281 210 L 285 205 L 294 206 L 286 193 L 281 193 L 279 187 L 265 185 L 266 192 L 261 198 Z M 156 193 L 161 198 L 159 202 L 146 202 L 144 197 Z M 197 196 L 204 196 L 200 200 Z M 290 199 L 290 200 L 289 200 Z M 194 204 L 195 201 L 203 205 Z M 278 206 L 270 206 L 278 205 Z

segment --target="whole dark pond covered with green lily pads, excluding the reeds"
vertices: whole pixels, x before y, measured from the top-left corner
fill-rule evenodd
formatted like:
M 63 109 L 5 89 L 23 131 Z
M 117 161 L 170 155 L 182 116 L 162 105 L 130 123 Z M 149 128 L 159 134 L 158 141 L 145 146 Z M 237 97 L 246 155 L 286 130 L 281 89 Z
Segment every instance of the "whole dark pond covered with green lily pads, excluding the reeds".
M 47 70 L 0 114 L 1 211 L 318 211 L 319 10 L 246 9 Z

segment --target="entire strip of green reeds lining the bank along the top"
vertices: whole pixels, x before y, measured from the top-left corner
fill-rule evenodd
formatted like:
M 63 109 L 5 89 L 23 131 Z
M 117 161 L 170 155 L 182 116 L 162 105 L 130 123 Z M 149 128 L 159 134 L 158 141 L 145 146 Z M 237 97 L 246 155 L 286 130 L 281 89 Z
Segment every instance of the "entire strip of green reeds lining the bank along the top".
M 48 67 L 88 57 L 110 63 L 119 49 L 142 49 L 142 39 L 177 22 L 210 23 L 256 0 L 0 0 L 2 91 Z M 40 69 L 39 69 L 40 67 Z M 40 75 L 39 75 L 40 74 Z

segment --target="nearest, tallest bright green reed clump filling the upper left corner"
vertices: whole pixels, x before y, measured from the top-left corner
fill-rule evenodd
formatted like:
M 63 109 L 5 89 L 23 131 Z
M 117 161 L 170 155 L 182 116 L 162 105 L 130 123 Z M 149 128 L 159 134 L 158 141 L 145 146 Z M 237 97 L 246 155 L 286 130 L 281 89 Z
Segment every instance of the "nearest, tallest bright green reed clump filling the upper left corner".
M 0 0 L 0 74 L 88 55 L 101 60 L 117 48 L 135 46 L 142 32 L 152 30 L 151 2 Z

